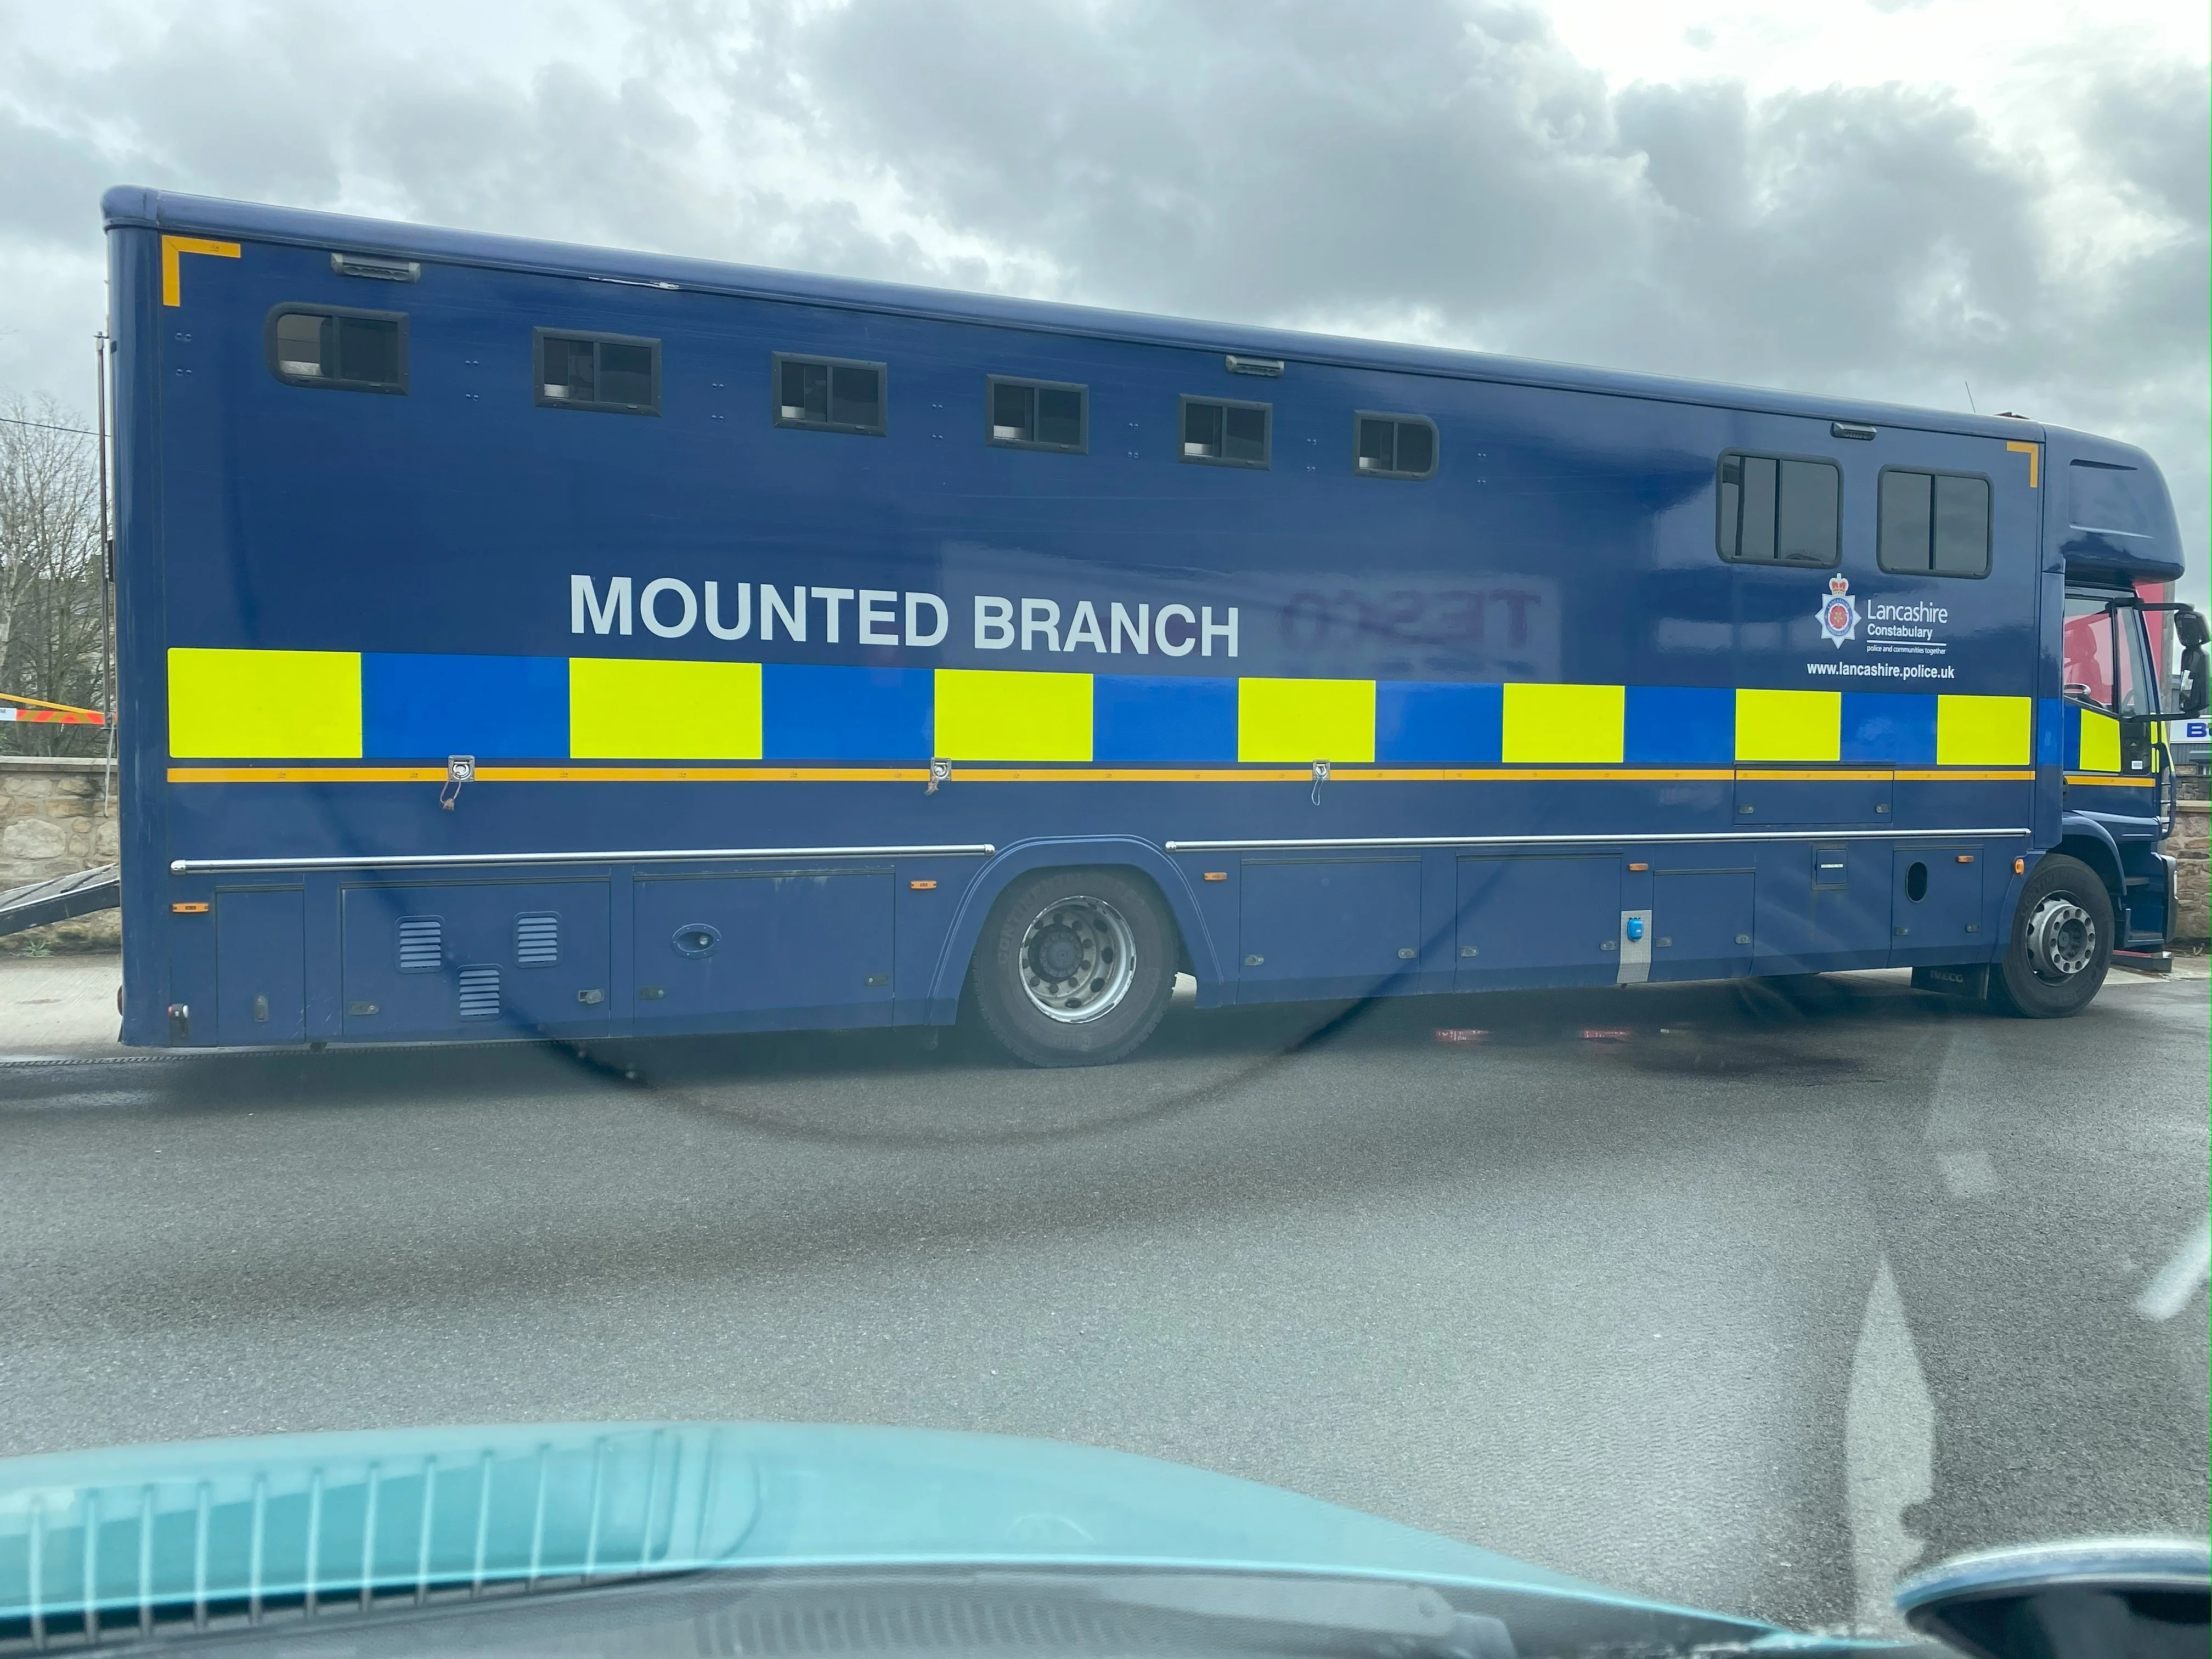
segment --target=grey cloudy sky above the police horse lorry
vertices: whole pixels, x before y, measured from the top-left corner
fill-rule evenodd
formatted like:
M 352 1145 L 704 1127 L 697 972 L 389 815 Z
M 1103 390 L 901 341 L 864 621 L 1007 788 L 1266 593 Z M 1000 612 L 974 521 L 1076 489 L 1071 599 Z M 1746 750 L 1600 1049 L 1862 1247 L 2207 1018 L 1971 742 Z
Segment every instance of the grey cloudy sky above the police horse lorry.
M 2203 595 L 2185 0 L 0 0 L 0 396 L 108 184 L 2017 409 Z

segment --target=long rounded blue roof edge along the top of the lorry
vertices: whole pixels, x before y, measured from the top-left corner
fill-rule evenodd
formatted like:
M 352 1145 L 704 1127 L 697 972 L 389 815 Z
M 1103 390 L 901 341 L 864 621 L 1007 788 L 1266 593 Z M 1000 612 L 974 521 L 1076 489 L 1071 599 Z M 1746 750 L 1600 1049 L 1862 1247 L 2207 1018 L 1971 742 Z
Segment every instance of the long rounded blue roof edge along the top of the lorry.
M 1491 356 L 1438 345 L 1402 345 L 1336 334 L 1303 334 L 1248 323 L 1212 323 L 1203 319 L 1148 316 L 1064 301 L 1006 299 L 945 288 L 883 283 L 854 276 L 737 265 L 684 254 L 650 254 L 582 243 L 538 241 L 476 230 L 445 230 L 396 219 L 363 219 L 310 208 L 276 208 L 221 197 L 177 195 L 144 186 L 115 186 L 100 199 L 104 226 L 166 232 L 217 232 L 252 241 L 338 243 L 352 252 L 405 254 L 434 263 L 495 265 L 546 276 L 584 281 L 639 283 L 732 296 L 770 299 L 801 305 L 836 305 L 849 310 L 900 312 L 945 323 L 982 327 L 1022 327 L 1051 334 L 1106 336 L 1141 345 L 1168 345 L 1197 352 L 1237 352 L 1274 356 L 1316 367 L 1387 369 L 1398 374 L 1436 374 L 1467 380 L 1500 380 L 1511 385 L 1562 392 L 1601 392 L 1659 403 L 1697 403 L 1750 414 L 1803 416 L 1812 420 L 1847 420 L 1876 427 L 1911 427 L 1982 438 L 2026 438 L 2042 442 L 2044 427 L 2011 416 L 1951 414 L 1907 405 L 1867 403 L 1860 398 L 1823 398 L 1765 387 L 1736 387 L 1717 380 L 1686 380 L 1659 374 L 1632 374 L 1575 363 Z

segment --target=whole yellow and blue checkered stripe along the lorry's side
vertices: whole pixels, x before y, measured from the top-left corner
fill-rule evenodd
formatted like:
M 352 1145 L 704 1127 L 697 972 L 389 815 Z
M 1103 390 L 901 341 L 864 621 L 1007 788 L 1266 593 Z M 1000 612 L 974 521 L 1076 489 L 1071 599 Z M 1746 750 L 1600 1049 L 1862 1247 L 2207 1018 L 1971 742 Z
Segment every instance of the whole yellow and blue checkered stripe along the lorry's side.
M 1951 770 L 2037 737 L 2028 697 L 349 650 L 170 650 L 168 701 L 179 761 Z M 2119 770 L 2112 721 L 2055 712 L 2068 768 Z

